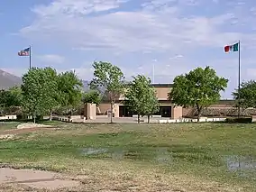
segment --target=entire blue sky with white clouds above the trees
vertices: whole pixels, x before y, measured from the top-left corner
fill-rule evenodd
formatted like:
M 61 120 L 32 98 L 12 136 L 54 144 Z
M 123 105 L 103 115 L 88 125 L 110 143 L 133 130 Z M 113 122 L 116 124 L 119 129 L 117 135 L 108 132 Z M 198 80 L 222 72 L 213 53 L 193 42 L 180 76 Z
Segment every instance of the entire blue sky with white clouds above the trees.
M 223 98 L 241 79 L 256 77 L 255 0 L 16 0 L 0 1 L 0 69 L 22 76 L 32 46 L 32 66 L 75 69 L 93 78 L 92 63 L 108 61 L 127 80 L 143 74 L 153 83 L 210 66 L 229 79 Z

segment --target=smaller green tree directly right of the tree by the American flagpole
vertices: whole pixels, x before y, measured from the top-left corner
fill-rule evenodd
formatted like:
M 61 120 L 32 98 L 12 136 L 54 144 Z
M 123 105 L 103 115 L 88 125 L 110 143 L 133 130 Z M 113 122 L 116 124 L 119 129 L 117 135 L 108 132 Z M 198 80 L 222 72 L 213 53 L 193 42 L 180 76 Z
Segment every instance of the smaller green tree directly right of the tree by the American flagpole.
M 59 103 L 66 108 L 76 108 L 82 99 L 82 80 L 78 78 L 75 71 L 66 71 L 59 74 L 58 90 Z

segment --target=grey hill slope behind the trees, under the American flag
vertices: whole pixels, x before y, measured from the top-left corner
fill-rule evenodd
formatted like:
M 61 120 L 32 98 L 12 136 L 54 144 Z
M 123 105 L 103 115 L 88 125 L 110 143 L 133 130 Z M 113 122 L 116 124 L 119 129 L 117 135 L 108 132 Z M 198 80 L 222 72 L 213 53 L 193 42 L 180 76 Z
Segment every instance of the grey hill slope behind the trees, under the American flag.
M 20 86 L 22 83 L 22 78 L 16 77 L 0 69 L 0 89 L 8 89 L 10 87 Z

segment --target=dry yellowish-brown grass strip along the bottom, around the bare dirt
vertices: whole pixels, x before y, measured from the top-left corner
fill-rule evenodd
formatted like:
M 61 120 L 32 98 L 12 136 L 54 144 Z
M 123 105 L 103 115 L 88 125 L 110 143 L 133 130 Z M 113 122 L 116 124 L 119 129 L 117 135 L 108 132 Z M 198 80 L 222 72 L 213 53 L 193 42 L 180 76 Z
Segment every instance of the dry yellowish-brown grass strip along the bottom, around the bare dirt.
M 50 164 L 49 164 L 50 163 Z M 30 165 L 29 165 L 30 164 Z M 131 162 L 109 160 L 45 160 L 37 163 L 23 162 L 14 168 L 23 166 L 54 169 L 62 172 L 63 179 L 74 179 L 81 183 L 72 189 L 62 188 L 56 192 L 70 191 L 162 191 L 162 192 L 237 192 L 246 191 L 242 187 L 224 185 L 218 182 L 191 177 L 184 174 L 164 173 L 161 169 L 149 165 L 133 165 Z M 2 185 L 6 192 L 13 191 L 50 191 L 35 189 L 24 185 Z

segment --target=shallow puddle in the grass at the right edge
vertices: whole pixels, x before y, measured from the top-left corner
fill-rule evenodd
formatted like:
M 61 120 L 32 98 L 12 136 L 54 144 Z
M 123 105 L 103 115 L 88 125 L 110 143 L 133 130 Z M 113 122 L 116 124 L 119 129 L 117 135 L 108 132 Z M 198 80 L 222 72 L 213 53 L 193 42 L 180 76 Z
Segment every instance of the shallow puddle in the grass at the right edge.
M 256 173 L 256 159 L 253 157 L 231 155 L 226 156 L 225 161 L 230 171 L 249 170 Z

